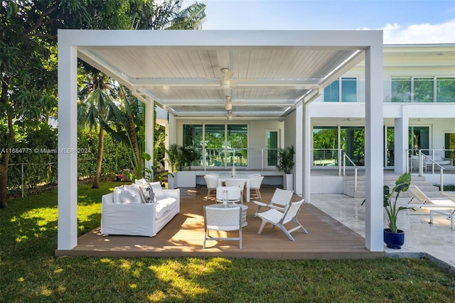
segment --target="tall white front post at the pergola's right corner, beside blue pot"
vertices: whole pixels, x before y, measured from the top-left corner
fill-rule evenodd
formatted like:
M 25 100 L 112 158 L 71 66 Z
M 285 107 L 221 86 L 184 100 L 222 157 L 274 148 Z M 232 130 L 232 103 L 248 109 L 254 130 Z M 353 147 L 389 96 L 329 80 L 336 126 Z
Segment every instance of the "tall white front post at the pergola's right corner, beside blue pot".
M 382 45 L 365 51 L 365 247 L 383 251 Z

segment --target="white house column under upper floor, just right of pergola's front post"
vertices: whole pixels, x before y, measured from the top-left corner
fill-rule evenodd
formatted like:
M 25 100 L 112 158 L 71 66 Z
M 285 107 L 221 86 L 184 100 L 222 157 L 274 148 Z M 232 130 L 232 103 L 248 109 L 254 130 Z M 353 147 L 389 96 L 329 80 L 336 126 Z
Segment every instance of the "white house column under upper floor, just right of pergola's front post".
M 406 151 L 408 148 L 409 137 L 409 115 L 407 106 L 401 107 L 401 117 L 395 119 L 395 174 L 404 174 L 409 155 Z

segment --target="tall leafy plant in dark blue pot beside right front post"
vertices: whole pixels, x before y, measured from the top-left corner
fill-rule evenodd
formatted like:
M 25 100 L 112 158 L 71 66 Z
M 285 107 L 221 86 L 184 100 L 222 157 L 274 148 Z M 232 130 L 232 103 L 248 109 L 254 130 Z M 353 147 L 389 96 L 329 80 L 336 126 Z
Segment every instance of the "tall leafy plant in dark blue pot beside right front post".
M 398 177 L 397 181 L 395 181 L 395 186 L 392 188 L 392 191 L 390 191 L 389 186 L 384 186 L 383 201 L 384 209 L 387 213 L 388 226 L 388 228 L 384 228 L 384 243 L 387 245 L 387 248 L 400 249 L 405 243 L 405 232 L 397 227 L 398 213 L 405 209 L 414 210 L 414 208 L 405 206 L 397 207 L 397 200 L 400 193 L 407 191 L 407 189 L 410 188 L 410 185 L 411 174 L 405 173 Z M 394 193 L 396 193 L 395 199 L 393 198 Z M 365 200 L 363 203 L 365 203 Z

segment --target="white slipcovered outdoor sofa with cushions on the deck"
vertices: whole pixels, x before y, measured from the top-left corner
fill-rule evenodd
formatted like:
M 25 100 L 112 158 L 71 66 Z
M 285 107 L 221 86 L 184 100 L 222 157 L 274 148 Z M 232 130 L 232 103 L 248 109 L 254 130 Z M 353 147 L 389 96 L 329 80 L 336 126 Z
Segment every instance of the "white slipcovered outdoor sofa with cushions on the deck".
M 102 234 L 154 237 L 180 212 L 179 189 L 163 189 L 159 182 L 140 183 L 119 186 L 102 196 Z

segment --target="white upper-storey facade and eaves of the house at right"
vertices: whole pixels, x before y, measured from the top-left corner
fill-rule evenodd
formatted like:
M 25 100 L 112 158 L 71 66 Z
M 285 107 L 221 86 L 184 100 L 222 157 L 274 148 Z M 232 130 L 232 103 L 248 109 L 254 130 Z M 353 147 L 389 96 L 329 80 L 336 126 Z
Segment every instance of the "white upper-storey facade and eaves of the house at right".
M 428 127 L 428 149 L 448 149 L 444 136 L 455 133 L 455 94 L 453 102 L 392 102 L 392 78 L 455 78 L 455 46 L 410 45 L 384 46 L 383 63 L 383 120 L 385 127 L 395 127 L 401 123 L 405 127 Z M 322 94 L 311 103 L 312 127 L 351 127 L 365 125 L 365 63 L 359 63 L 342 78 L 355 78 L 357 83 L 356 102 L 324 102 Z M 436 90 L 436 85 L 434 86 Z M 405 119 L 405 120 L 404 120 Z M 397 146 L 408 148 L 407 136 L 401 138 Z M 385 144 L 385 148 L 387 145 Z M 384 153 L 386 154 L 386 149 Z M 396 151 L 395 151 L 396 152 Z M 400 151 L 407 159 L 407 151 Z M 398 162 L 397 173 L 404 172 L 405 162 Z

